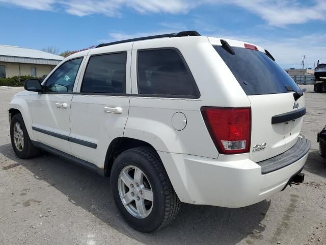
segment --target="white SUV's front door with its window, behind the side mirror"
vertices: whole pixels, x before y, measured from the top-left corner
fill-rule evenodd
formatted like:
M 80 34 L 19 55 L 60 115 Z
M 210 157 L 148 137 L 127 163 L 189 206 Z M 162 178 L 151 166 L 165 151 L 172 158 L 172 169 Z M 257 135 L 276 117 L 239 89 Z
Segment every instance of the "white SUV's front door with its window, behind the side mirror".
M 45 81 L 42 93 L 28 100 L 34 139 L 65 153 L 71 153 L 70 106 L 72 90 L 83 58 L 69 60 Z

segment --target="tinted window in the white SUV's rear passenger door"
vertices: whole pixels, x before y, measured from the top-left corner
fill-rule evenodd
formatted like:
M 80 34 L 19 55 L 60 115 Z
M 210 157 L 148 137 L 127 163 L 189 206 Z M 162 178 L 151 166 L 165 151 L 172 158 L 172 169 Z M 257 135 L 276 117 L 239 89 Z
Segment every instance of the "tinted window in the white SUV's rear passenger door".
M 126 93 L 127 53 L 91 56 L 80 92 Z

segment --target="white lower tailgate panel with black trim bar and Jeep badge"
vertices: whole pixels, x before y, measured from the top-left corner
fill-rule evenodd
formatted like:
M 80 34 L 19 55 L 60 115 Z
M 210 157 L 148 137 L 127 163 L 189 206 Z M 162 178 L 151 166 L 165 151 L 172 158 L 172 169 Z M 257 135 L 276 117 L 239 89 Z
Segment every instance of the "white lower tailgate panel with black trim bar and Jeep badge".
M 290 149 L 301 131 L 304 96 L 297 101 L 294 101 L 293 93 L 248 97 L 252 113 L 250 159 L 259 162 Z

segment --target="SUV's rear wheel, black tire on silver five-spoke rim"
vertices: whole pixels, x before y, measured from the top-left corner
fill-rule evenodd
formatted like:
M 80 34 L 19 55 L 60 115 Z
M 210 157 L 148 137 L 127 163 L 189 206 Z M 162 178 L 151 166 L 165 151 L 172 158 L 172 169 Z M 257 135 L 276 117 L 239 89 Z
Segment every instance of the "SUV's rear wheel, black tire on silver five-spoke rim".
M 143 180 L 141 181 L 142 188 L 144 188 L 143 193 L 139 191 L 140 185 L 137 185 L 137 179 L 139 178 L 134 175 L 136 171 L 140 173 L 139 170 L 143 173 Z M 128 181 L 133 181 L 128 182 L 130 185 L 128 188 L 126 181 L 122 181 L 123 173 L 128 173 L 128 178 L 131 177 Z M 156 151 L 147 146 L 132 148 L 121 153 L 112 166 L 110 181 L 116 206 L 128 225 L 135 230 L 141 232 L 158 230 L 168 225 L 179 212 L 180 201 L 172 187 L 168 174 Z M 147 192 L 148 189 L 152 191 L 152 202 L 149 201 L 150 199 L 146 199 L 145 189 L 147 189 Z M 124 195 L 125 197 L 133 198 L 128 205 L 124 204 L 122 198 L 120 198 L 125 192 L 127 192 Z M 138 205 L 143 200 L 144 204 L 147 204 L 143 215 L 138 209 L 137 200 L 140 200 Z

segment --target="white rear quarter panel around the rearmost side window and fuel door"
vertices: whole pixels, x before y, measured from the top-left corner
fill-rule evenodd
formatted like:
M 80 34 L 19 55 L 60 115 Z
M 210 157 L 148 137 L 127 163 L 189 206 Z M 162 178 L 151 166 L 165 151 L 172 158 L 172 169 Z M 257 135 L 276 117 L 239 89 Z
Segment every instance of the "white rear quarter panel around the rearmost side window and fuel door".
M 153 39 L 135 42 L 132 50 L 132 93 L 137 94 L 137 51 L 148 48 L 177 48 L 200 91 L 199 99 L 131 96 L 125 137 L 144 140 L 157 150 L 218 158 L 219 153 L 201 115 L 202 106 L 250 107 L 247 95 L 235 80 L 207 37 Z M 182 112 L 184 130 L 172 127 L 172 116 Z

